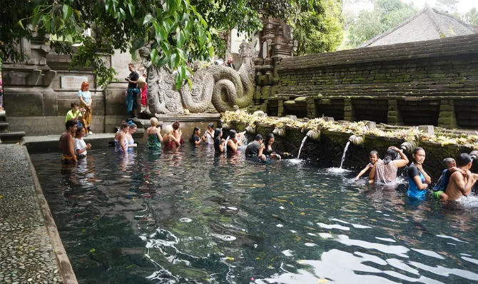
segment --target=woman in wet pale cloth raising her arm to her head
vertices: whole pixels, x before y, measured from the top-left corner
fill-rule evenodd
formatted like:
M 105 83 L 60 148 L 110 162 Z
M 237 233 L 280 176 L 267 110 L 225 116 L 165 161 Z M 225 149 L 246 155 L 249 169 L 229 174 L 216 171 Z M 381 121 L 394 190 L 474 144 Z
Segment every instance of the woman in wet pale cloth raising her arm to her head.
M 397 160 L 397 153 L 400 159 Z M 397 147 L 390 147 L 383 160 L 378 160 L 370 171 L 369 183 L 381 183 L 392 186 L 397 183 L 397 170 L 407 166 L 408 158 L 402 150 Z

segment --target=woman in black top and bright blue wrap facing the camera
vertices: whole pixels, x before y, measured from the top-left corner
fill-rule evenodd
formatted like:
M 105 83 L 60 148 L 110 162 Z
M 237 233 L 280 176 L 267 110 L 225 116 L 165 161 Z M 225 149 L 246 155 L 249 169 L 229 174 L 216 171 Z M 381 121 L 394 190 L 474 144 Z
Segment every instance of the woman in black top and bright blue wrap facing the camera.
M 432 178 L 423 169 L 423 162 L 425 161 L 425 151 L 422 147 L 415 148 L 412 153 L 412 163 L 408 167 L 408 191 L 407 196 L 423 200 L 426 189 L 429 183 L 432 182 Z

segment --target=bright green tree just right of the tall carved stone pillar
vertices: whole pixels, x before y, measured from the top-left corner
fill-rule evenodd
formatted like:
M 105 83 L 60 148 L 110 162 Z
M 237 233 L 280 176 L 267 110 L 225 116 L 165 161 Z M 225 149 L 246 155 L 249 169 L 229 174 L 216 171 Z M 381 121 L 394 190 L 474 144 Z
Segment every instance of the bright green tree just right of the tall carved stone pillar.
M 296 5 L 295 17 L 290 19 L 294 39 L 298 41 L 296 55 L 335 51 L 342 42 L 340 13 L 342 3 L 337 0 L 314 0 L 312 9 Z

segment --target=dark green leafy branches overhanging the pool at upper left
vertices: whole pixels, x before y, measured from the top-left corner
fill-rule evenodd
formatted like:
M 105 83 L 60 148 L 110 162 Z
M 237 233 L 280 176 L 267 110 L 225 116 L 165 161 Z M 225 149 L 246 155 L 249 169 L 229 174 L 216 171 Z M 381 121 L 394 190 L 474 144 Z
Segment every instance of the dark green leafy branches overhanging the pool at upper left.
M 151 44 L 153 64 L 178 71 L 177 88 L 187 79 L 186 61 L 213 52 L 208 25 L 189 0 L 49 0 L 18 23 L 59 39 L 51 43 L 55 50 L 70 54 L 73 66 L 92 67 L 101 86 L 116 75 L 102 59 L 115 49 L 133 53 Z M 88 28 L 91 37 L 84 34 Z M 75 52 L 73 43 L 79 44 Z

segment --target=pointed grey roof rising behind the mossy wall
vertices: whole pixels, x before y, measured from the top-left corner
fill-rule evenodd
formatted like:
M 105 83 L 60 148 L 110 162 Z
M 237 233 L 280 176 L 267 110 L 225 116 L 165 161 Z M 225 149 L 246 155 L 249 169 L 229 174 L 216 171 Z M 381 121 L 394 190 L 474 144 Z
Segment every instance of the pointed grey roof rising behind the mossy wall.
M 358 46 L 358 48 L 429 41 L 444 37 L 475 34 L 476 32 L 471 26 L 446 12 L 425 8 L 415 16 L 395 26 L 395 28 L 375 36 L 365 44 Z

